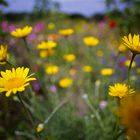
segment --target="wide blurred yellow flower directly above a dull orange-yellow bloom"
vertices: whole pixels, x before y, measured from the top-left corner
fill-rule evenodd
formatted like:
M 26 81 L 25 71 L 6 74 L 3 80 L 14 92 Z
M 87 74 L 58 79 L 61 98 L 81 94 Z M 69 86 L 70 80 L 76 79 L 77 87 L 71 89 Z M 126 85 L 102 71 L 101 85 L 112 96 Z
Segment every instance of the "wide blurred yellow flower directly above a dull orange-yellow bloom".
M 52 49 L 56 47 L 56 42 L 54 41 L 43 41 L 40 44 L 38 44 L 38 49 Z

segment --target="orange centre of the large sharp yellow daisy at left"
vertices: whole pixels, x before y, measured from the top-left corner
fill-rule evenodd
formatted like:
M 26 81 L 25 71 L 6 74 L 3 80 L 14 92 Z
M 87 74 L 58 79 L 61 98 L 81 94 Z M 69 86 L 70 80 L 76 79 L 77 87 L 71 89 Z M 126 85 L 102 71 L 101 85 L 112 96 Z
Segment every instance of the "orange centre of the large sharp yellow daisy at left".
M 5 89 L 19 88 L 24 84 L 24 79 L 19 77 L 14 77 L 6 81 Z

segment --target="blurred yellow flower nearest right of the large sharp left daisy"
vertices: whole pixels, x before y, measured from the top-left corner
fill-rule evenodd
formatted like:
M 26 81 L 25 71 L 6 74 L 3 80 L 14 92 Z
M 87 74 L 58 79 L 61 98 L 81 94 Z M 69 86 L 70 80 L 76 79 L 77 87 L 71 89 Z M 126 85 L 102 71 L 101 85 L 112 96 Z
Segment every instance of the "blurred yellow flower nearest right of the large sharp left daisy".
M 50 65 L 46 66 L 46 73 L 49 75 L 56 74 L 56 73 L 58 73 L 58 71 L 59 71 L 59 68 L 56 65 L 50 64 Z

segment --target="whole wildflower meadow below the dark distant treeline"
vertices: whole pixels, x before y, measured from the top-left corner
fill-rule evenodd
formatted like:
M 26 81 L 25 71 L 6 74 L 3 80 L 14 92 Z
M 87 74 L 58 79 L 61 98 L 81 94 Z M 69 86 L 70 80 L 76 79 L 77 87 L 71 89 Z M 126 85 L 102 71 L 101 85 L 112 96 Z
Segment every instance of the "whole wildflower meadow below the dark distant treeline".
M 140 28 L 127 12 L 1 14 L 0 140 L 140 140 Z

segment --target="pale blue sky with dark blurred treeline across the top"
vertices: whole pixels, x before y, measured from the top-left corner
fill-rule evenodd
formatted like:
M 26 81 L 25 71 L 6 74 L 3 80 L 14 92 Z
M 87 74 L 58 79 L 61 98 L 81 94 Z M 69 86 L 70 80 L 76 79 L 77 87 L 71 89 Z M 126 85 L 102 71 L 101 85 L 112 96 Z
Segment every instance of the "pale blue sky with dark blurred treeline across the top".
M 1 0 L 0 9 L 8 18 L 15 14 L 25 17 L 43 17 L 50 13 L 68 14 L 71 17 L 116 19 L 118 25 L 131 30 L 139 27 L 139 0 Z M 22 16 L 22 18 L 23 18 Z M 16 20 L 14 16 L 12 20 Z M 19 16 L 21 17 L 21 16 Z M 17 19 L 19 19 L 19 17 Z M 1 16 L 2 18 L 2 16 Z M 133 30 L 133 29 L 132 29 Z M 134 29 L 137 31 L 137 29 Z

